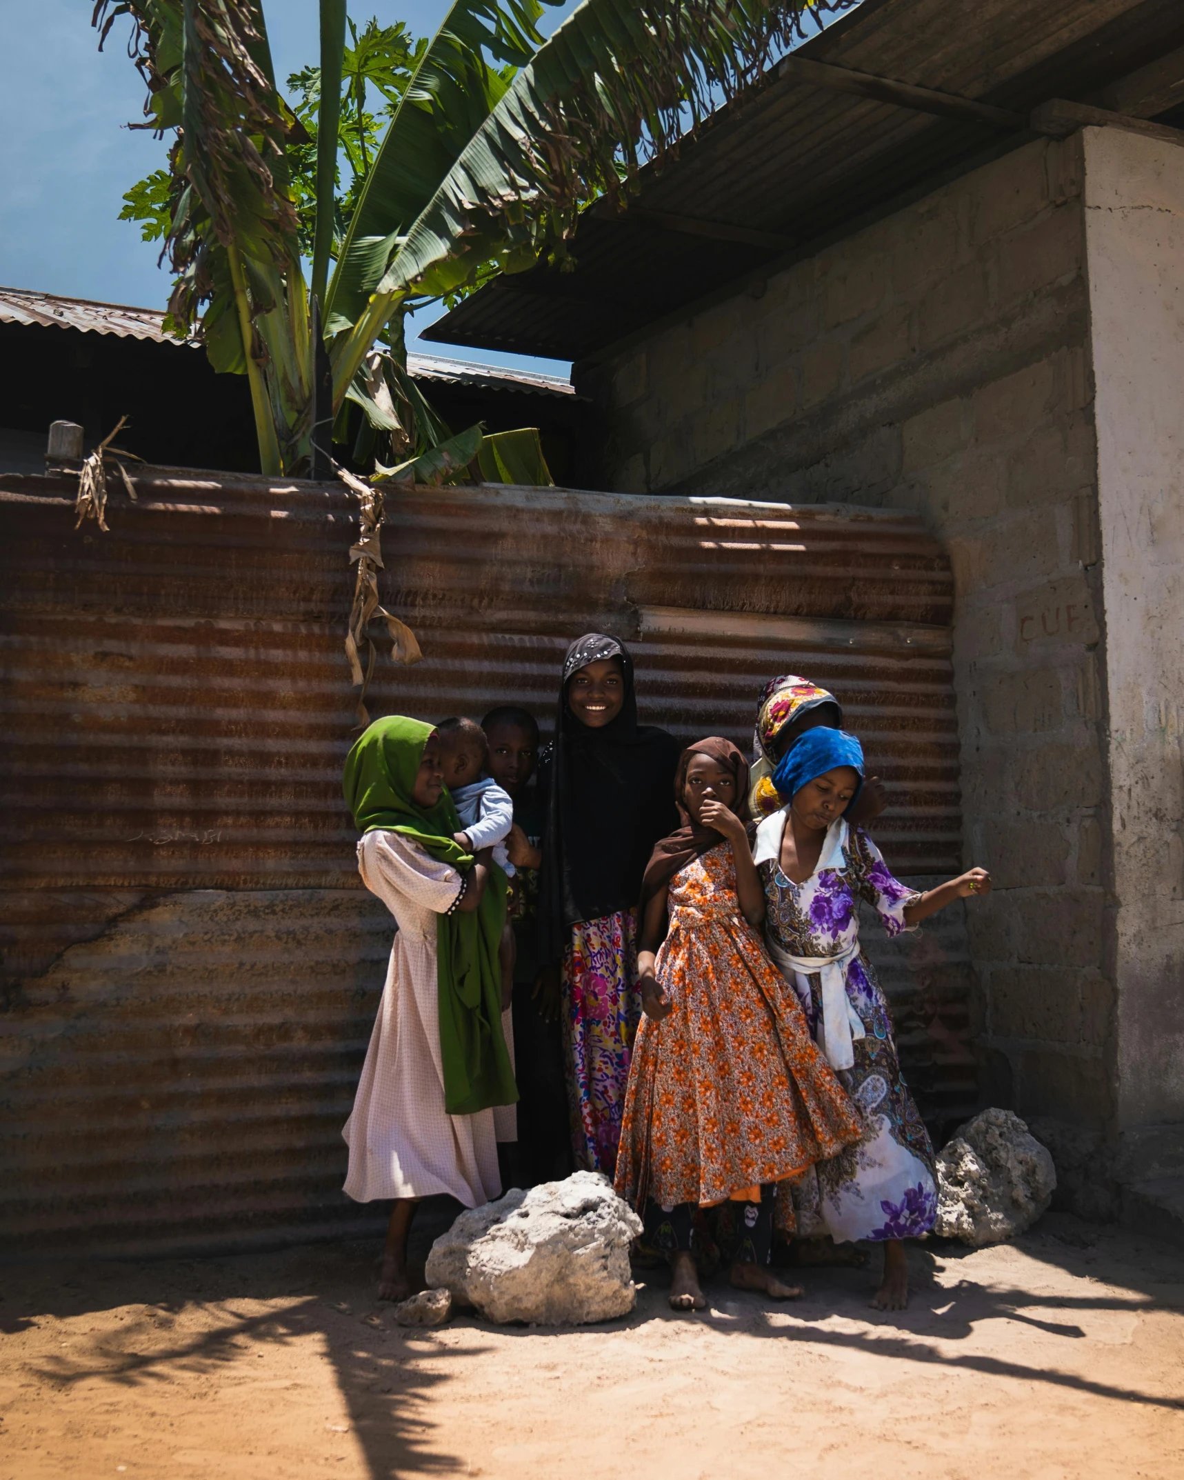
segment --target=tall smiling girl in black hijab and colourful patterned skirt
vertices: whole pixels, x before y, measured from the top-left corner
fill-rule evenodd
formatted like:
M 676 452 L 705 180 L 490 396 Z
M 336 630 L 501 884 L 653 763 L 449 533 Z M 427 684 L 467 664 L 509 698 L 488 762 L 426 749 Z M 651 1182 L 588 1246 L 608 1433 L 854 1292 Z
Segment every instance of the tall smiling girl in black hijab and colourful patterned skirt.
M 564 659 L 546 789 L 539 961 L 558 972 L 576 1165 L 608 1177 L 641 1015 L 636 907 L 659 838 L 675 826 L 678 746 L 638 724 L 633 660 L 589 632 Z

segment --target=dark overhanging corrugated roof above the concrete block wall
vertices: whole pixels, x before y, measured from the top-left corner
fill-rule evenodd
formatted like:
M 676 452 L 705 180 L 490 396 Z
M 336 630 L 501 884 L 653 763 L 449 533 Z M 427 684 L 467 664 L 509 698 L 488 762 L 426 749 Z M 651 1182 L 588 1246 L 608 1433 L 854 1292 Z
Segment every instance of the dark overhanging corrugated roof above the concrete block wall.
M 864 0 L 795 55 L 1027 114 L 1054 96 L 1094 98 L 1181 44 L 1178 0 Z M 632 218 L 586 212 L 574 271 L 499 277 L 425 337 L 579 361 L 1027 138 L 774 73 L 642 173 Z M 644 212 L 792 246 L 693 235 Z

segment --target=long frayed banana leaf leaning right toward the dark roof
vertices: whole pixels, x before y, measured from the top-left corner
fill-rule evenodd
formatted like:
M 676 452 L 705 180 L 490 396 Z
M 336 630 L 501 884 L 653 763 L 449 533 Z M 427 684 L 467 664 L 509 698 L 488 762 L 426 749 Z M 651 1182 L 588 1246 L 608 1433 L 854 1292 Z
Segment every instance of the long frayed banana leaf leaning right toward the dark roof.
M 857 0 L 583 0 L 475 129 L 420 210 L 354 330 L 334 343 L 340 397 L 374 334 L 411 295 L 440 296 L 482 266 L 533 265 L 583 204 L 694 129 L 756 78 L 807 13 Z M 391 231 L 389 221 L 383 229 Z

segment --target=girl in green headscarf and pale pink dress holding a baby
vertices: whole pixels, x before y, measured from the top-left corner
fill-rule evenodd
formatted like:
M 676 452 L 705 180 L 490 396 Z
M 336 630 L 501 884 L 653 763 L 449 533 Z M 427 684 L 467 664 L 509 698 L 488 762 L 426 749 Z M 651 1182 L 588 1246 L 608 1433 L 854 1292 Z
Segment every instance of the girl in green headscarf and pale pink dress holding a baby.
M 346 758 L 343 789 L 363 833 L 363 882 L 398 921 L 342 1132 L 345 1191 L 395 1199 L 379 1298 L 406 1299 L 416 1202 L 450 1193 L 475 1208 L 502 1190 L 493 1106 L 518 1098 L 497 966 L 506 884 L 488 850 L 474 858 L 453 841 L 460 821 L 431 725 L 376 721 Z

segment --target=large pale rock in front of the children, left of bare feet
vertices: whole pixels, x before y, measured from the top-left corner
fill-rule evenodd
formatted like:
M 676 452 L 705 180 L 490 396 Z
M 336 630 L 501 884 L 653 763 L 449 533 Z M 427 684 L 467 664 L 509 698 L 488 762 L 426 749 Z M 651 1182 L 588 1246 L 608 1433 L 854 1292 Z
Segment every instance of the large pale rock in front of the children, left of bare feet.
M 599 1172 L 576 1172 L 462 1212 L 428 1255 L 428 1283 L 488 1320 L 543 1326 L 626 1316 L 641 1218 Z

